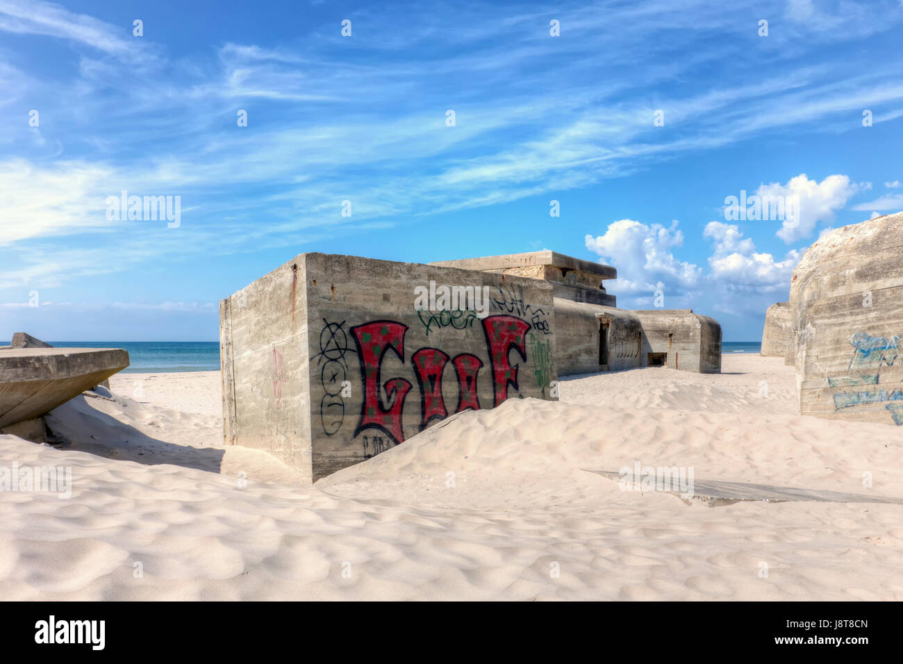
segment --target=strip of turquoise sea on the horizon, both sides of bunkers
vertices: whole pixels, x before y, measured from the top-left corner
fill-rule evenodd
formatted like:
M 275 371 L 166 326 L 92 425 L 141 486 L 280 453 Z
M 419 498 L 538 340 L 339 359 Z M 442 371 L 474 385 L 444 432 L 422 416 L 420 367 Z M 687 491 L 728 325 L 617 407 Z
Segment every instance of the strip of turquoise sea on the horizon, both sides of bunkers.
M 9 341 L 6 341 L 9 343 Z M 48 341 L 70 348 L 124 348 L 132 364 L 123 373 L 219 371 L 217 341 Z M 3 343 L 0 343 L 3 345 Z M 758 353 L 759 341 L 724 341 L 722 354 Z

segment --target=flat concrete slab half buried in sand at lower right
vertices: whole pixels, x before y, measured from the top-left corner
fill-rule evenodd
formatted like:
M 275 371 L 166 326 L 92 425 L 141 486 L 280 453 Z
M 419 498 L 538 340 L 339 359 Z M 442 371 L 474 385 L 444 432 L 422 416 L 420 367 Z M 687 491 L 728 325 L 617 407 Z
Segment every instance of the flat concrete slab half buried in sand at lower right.
M 597 471 L 582 468 L 613 482 L 621 481 L 621 474 L 613 471 Z M 656 491 L 655 489 L 650 490 Z M 680 491 L 659 491 L 670 493 L 686 500 Z M 891 505 L 903 505 L 903 498 L 890 496 L 873 496 L 865 493 L 845 493 L 842 491 L 818 491 L 799 489 L 797 487 L 772 486 L 770 484 L 749 484 L 747 482 L 724 482 L 722 480 L 694 480 L 690 498 L 701 500 L 709 507 L 732 505 L 741 500 L 760 500 L 764 502 L 878 502 Z

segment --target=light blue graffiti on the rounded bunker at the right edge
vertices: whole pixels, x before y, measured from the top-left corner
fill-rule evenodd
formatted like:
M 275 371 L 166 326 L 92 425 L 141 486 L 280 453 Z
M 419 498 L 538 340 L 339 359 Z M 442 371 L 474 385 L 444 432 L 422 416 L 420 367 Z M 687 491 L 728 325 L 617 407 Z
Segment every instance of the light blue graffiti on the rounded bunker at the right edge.
M 873 337 L 857 332 L 850 338 L 852 357 L 845 374 L 828 378 L 834 410 L 874 410 L 882 405 L 894 423 L 903 426 L 903 386 L 899 381 L 882 385 L 881 369 L 897 362 L 899 337 Z

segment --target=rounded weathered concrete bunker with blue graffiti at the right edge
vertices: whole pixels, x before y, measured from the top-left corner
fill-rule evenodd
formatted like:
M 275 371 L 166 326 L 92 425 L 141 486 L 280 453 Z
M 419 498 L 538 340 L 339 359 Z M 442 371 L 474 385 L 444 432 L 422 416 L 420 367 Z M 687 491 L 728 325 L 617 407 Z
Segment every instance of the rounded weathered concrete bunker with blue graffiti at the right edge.
M 903 212 L 835 229 L 790 285 L 800 412 L 903 425 Z

